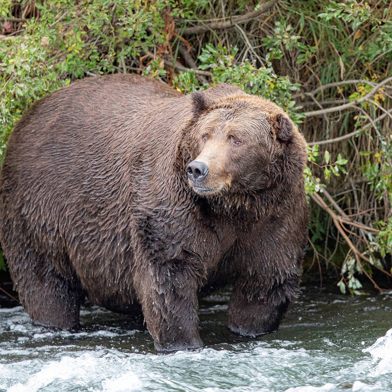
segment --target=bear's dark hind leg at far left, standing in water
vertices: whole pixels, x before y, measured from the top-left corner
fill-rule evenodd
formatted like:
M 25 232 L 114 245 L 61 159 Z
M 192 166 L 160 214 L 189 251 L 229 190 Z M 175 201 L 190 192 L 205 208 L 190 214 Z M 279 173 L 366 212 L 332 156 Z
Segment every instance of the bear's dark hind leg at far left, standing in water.
M 84 298 L 79 279 L 61 276 L 32 247 L 17 249 L 17 254 L 7 255 L 9 269 L 32 323 L 60 329 L 77 327 Z

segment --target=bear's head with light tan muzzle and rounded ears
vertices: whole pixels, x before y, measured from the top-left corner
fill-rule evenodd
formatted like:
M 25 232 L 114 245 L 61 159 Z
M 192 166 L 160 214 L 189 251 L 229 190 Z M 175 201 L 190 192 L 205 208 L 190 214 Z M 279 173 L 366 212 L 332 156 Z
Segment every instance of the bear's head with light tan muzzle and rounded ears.
M 233 94 L 191 94 L 193 119 L 183 148 L 192 190 L 206 197 L 290 189 L 303 179 L 303 136 L 277 105 Z

